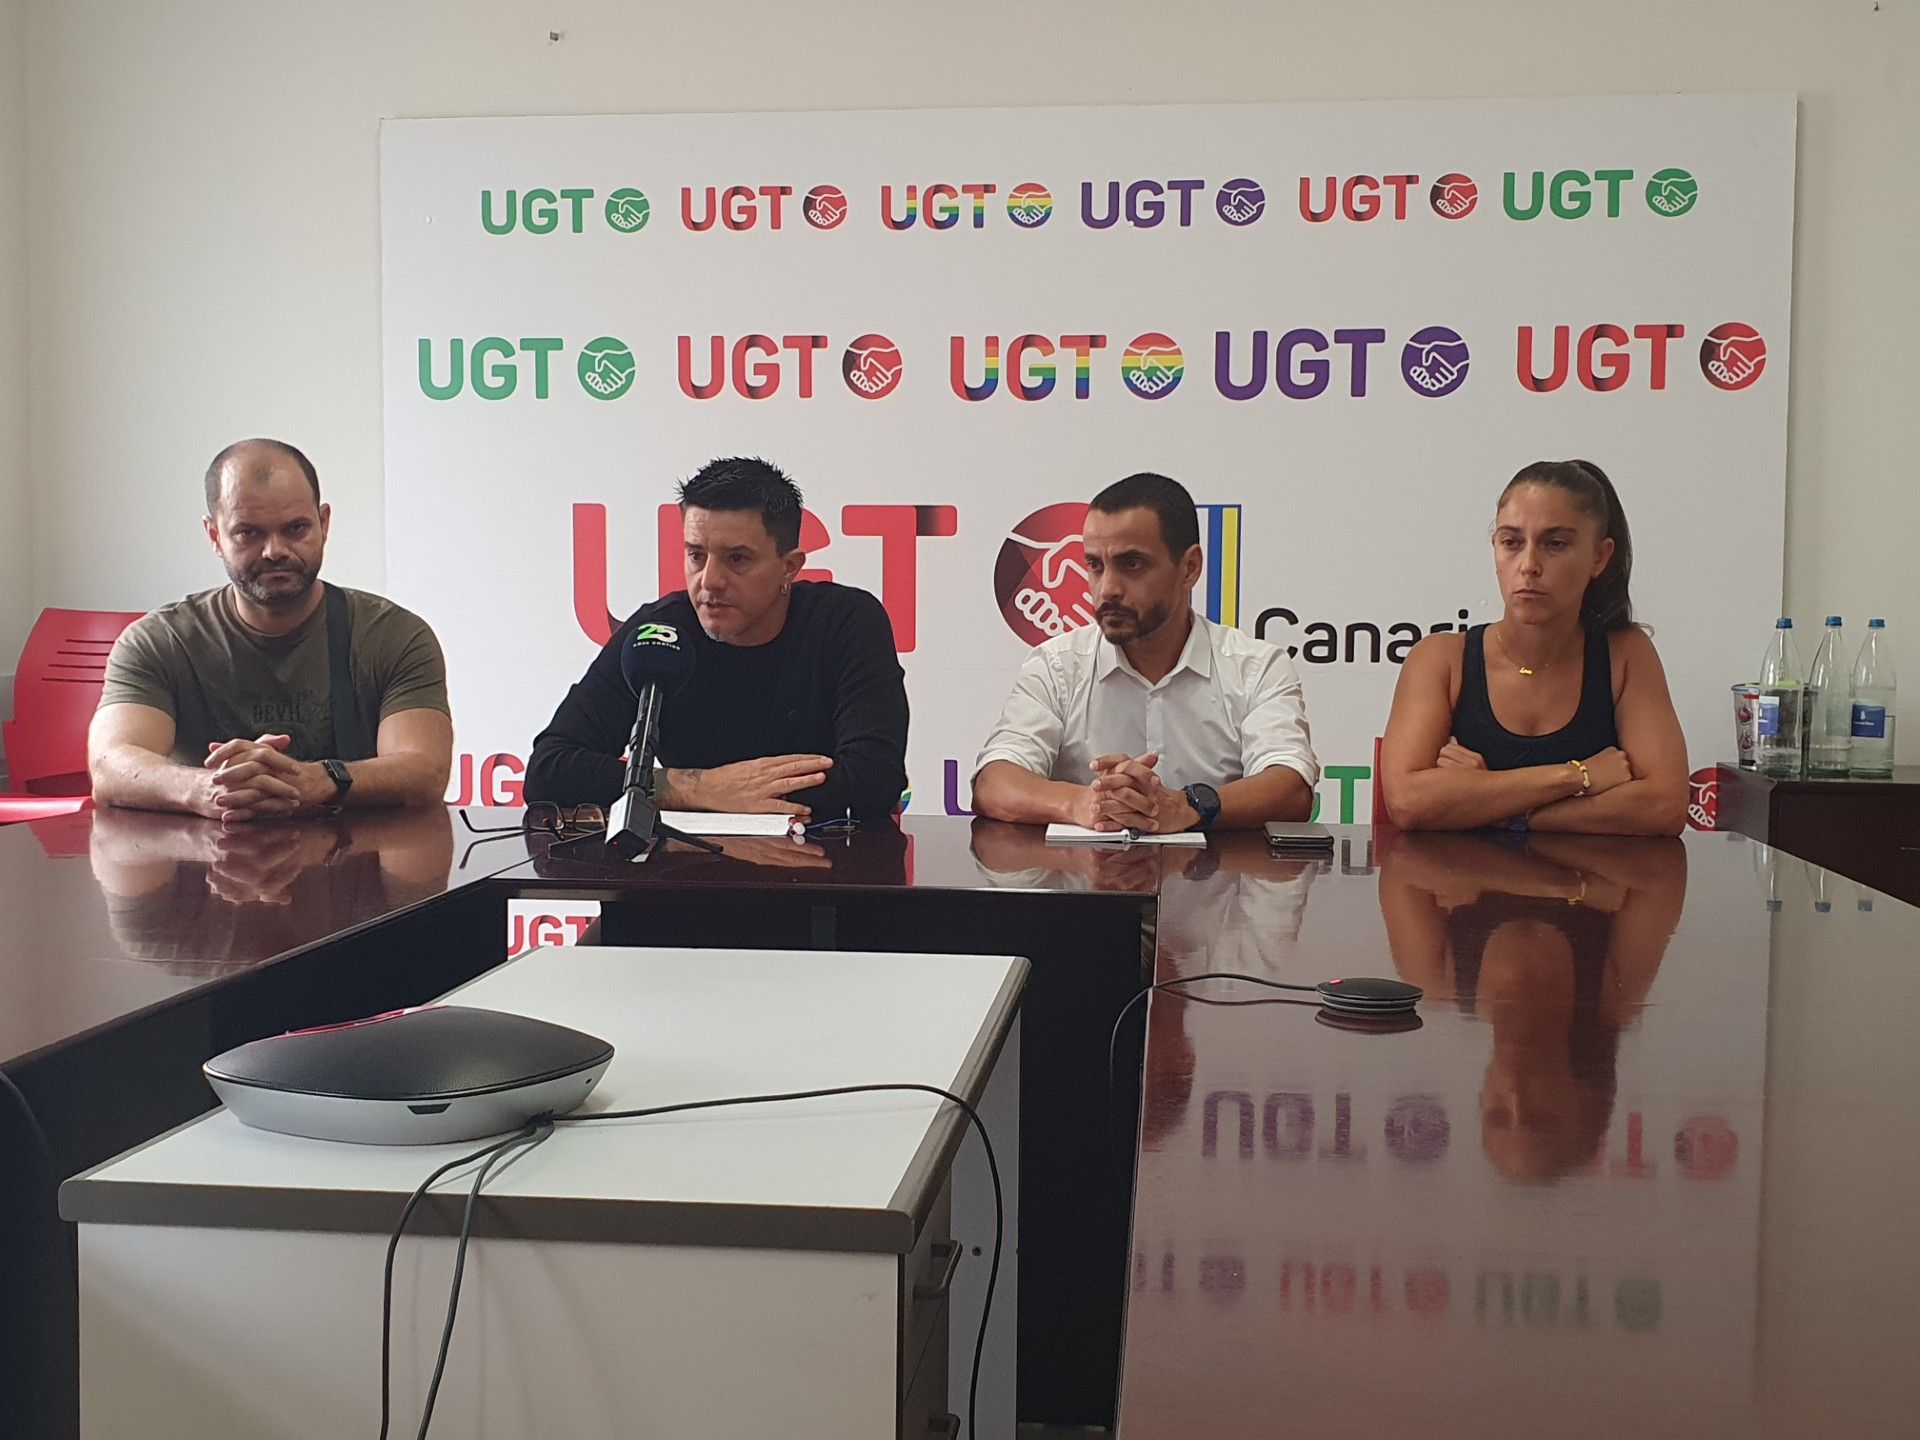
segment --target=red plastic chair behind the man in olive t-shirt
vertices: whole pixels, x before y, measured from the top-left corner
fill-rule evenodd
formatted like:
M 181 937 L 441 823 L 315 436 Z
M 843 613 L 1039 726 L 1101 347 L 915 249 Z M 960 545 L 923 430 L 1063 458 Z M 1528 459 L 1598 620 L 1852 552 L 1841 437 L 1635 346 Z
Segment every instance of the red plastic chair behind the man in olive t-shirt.
M 86 726 L 106 685 L 108 653 L 138 618 L 138 611 L 40 611 L 19 653 L 13 718 L 0 726 L 8 795 L 86 799 L 92 789 Z M 8 795 L 0 795 L 0 803 Z

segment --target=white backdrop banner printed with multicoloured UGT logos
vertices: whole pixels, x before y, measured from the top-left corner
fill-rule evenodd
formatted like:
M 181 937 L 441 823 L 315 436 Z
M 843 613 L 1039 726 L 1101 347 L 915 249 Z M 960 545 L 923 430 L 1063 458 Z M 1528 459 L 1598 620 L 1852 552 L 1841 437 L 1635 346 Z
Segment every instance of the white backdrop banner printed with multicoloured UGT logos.
M 455 797 L 684 588 L 674 482 L 764 455 L 885 601 L 910 810 L 964 812 L 1087 499 L 1200 503 L 1194 605 L 1284 645 L 1365 818 L 1400 662 L 1498 618 L 1534 459 L 1619 486 L 1695 768 L 1780 597 L 1791 96 L 388 121 L 388 589 Z

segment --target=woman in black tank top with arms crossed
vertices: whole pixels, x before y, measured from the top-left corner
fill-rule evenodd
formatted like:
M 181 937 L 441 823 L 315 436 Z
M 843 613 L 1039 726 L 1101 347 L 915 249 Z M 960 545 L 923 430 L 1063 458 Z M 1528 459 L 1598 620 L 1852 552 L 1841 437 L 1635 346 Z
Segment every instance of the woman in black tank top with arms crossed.
M 1686 741 L 1653 641 L 1634 624 L 1632 536 L 1590 461 L 1528 465 L 1500 495 L 1503 612 L 1407 657 L 1380 747 L 1404 829 L 1676 835 Z

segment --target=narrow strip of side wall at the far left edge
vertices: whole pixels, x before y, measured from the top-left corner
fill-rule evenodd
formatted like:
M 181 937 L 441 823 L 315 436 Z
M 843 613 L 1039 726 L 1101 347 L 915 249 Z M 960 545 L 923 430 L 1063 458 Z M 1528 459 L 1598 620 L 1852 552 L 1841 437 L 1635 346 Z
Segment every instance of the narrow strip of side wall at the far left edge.
M 33 605 L 27 468 L 27 6 L 0 0 L 0 718 Z M 0 762 L 4 764 L 4 762 Z

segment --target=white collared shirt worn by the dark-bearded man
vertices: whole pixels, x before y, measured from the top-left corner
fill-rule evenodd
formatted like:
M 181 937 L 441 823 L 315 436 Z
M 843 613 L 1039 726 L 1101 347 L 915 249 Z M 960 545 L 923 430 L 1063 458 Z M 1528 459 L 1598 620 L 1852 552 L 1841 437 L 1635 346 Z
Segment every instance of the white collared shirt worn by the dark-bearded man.
M 1160 780 L 1171 789 L 1219 787 L 1275 764 L 1300 772 L 1309 789 L 1319 783 L 1300 674 L 1286 651 L 1202 614 L 1160 684 L 1127 664 L 1098 626 L 1037 645 L 973 774 L 1012 760 L 1085 785 L 1094 756 L 1146 753 L 1160 756 Z

